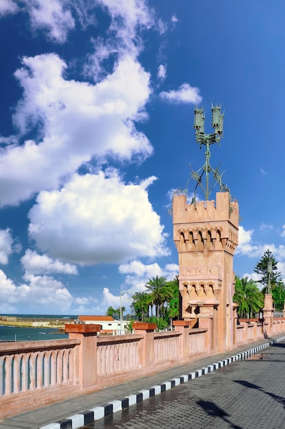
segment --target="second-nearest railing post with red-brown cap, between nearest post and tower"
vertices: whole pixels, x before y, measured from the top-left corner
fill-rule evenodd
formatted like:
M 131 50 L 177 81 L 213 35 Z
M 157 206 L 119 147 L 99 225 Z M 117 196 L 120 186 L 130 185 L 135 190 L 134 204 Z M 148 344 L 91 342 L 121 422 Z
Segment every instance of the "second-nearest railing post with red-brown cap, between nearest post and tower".
M 144 335 L 141 350 L 141 365 L 145 371 L 153 369 L 154 365 L 154 329 L 157 329 L 157 323 L 135 322 L 133 324 L 135 334 Z

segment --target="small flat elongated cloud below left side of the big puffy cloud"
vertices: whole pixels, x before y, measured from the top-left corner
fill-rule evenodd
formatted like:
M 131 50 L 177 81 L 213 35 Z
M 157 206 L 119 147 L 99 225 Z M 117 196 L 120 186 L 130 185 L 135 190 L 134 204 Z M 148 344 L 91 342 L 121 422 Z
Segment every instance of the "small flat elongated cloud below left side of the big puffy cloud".
M 64 264 L 46 255 L 39 255 L 37 252 L 33 252 L 30 249 L 26 250 L 25 255 L 21 258 L 21 263 L 27 273 L 32 274 L 78 274 L 75 265 Z

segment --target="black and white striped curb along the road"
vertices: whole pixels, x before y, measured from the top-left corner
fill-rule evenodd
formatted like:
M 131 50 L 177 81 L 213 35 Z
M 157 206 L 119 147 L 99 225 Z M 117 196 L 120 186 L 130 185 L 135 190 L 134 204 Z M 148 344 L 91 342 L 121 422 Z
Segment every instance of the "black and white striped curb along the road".
M 184 374 L 180 377 L 173 378 L 172 380 L 165 381 L 161 384 L 157 384 L 156 386 L 152 386 L 149 389 L 141 390 L 137 393 L 134 393 L 133 395 L 123 397 L 121 400 L 108 402 L 107 404 L 96 406 L 96 408 L 92 408 L 83 413 L 74 414 L 67 419 L 57 421 L 56 423 L 41 426 L 39 429 L 79 429 L 85 424 L 90 424 L 93 421 L 103 419 L 103 417 L 107 417 L 107 415 L 117 413 L 117 411 L 121 411 L 124 408 L 128 408 L 128 406 L 135 405 L 138 402 L 144 401 L 148 399 L 148 397 L 159 395 L 160 393 L 172 389 L 179 384 L 183 384 L 185 382 L 188 382 L 189 380 L 193 380 L 193 378 L 204 376 L 204 374 L 226 367 L 226 365 L 236 362 L 237 360 L 248 359 L 254 356 L 254 354 L 256 354 L 257 352 L 260 352 L 260 350 L 269 347 L 269 345 L 279 343 L 284 339 L 285 336 L 282 336 L 275 340 L 271 340 L 268 343 L 258 345 L 257 347 L 249 349 L 246 352 L 235 354 L 230 358 L 219 360 L 217 363 L 213 363 L 211 365 L 198 369 L 197 371 L 193 371 L 189 374 Z

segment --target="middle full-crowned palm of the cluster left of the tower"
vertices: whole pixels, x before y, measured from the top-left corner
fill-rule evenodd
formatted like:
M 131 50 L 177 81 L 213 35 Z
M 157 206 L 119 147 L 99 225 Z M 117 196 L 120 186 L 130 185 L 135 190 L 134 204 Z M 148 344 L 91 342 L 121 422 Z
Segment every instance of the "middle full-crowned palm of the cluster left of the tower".
M 163 304 L 169 302 L 173 296 L 172 288 L 166 284 L 166 278 L 157 275 L 157 277 L 148 280 L 146 289 L 150 291 L 150 297 L 156 307 L 157 319 L 159 319 L 163 312 Z

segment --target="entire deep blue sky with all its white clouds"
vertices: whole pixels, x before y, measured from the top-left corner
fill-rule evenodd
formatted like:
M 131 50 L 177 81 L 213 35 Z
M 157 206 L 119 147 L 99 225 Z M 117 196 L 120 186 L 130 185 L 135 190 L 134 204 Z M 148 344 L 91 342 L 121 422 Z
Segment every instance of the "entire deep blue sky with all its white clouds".
M 235 273 L 258 280 L 269 248 L 285 278 L 284 12 L 282 0 L 1 0 L 0 313 L 101 315 L 174 278 L 167 210 L 189 163 L 204 164 L 196 104 L 207 133 L 211 103 L 225 109 L 211 165 L 239 201 Z

